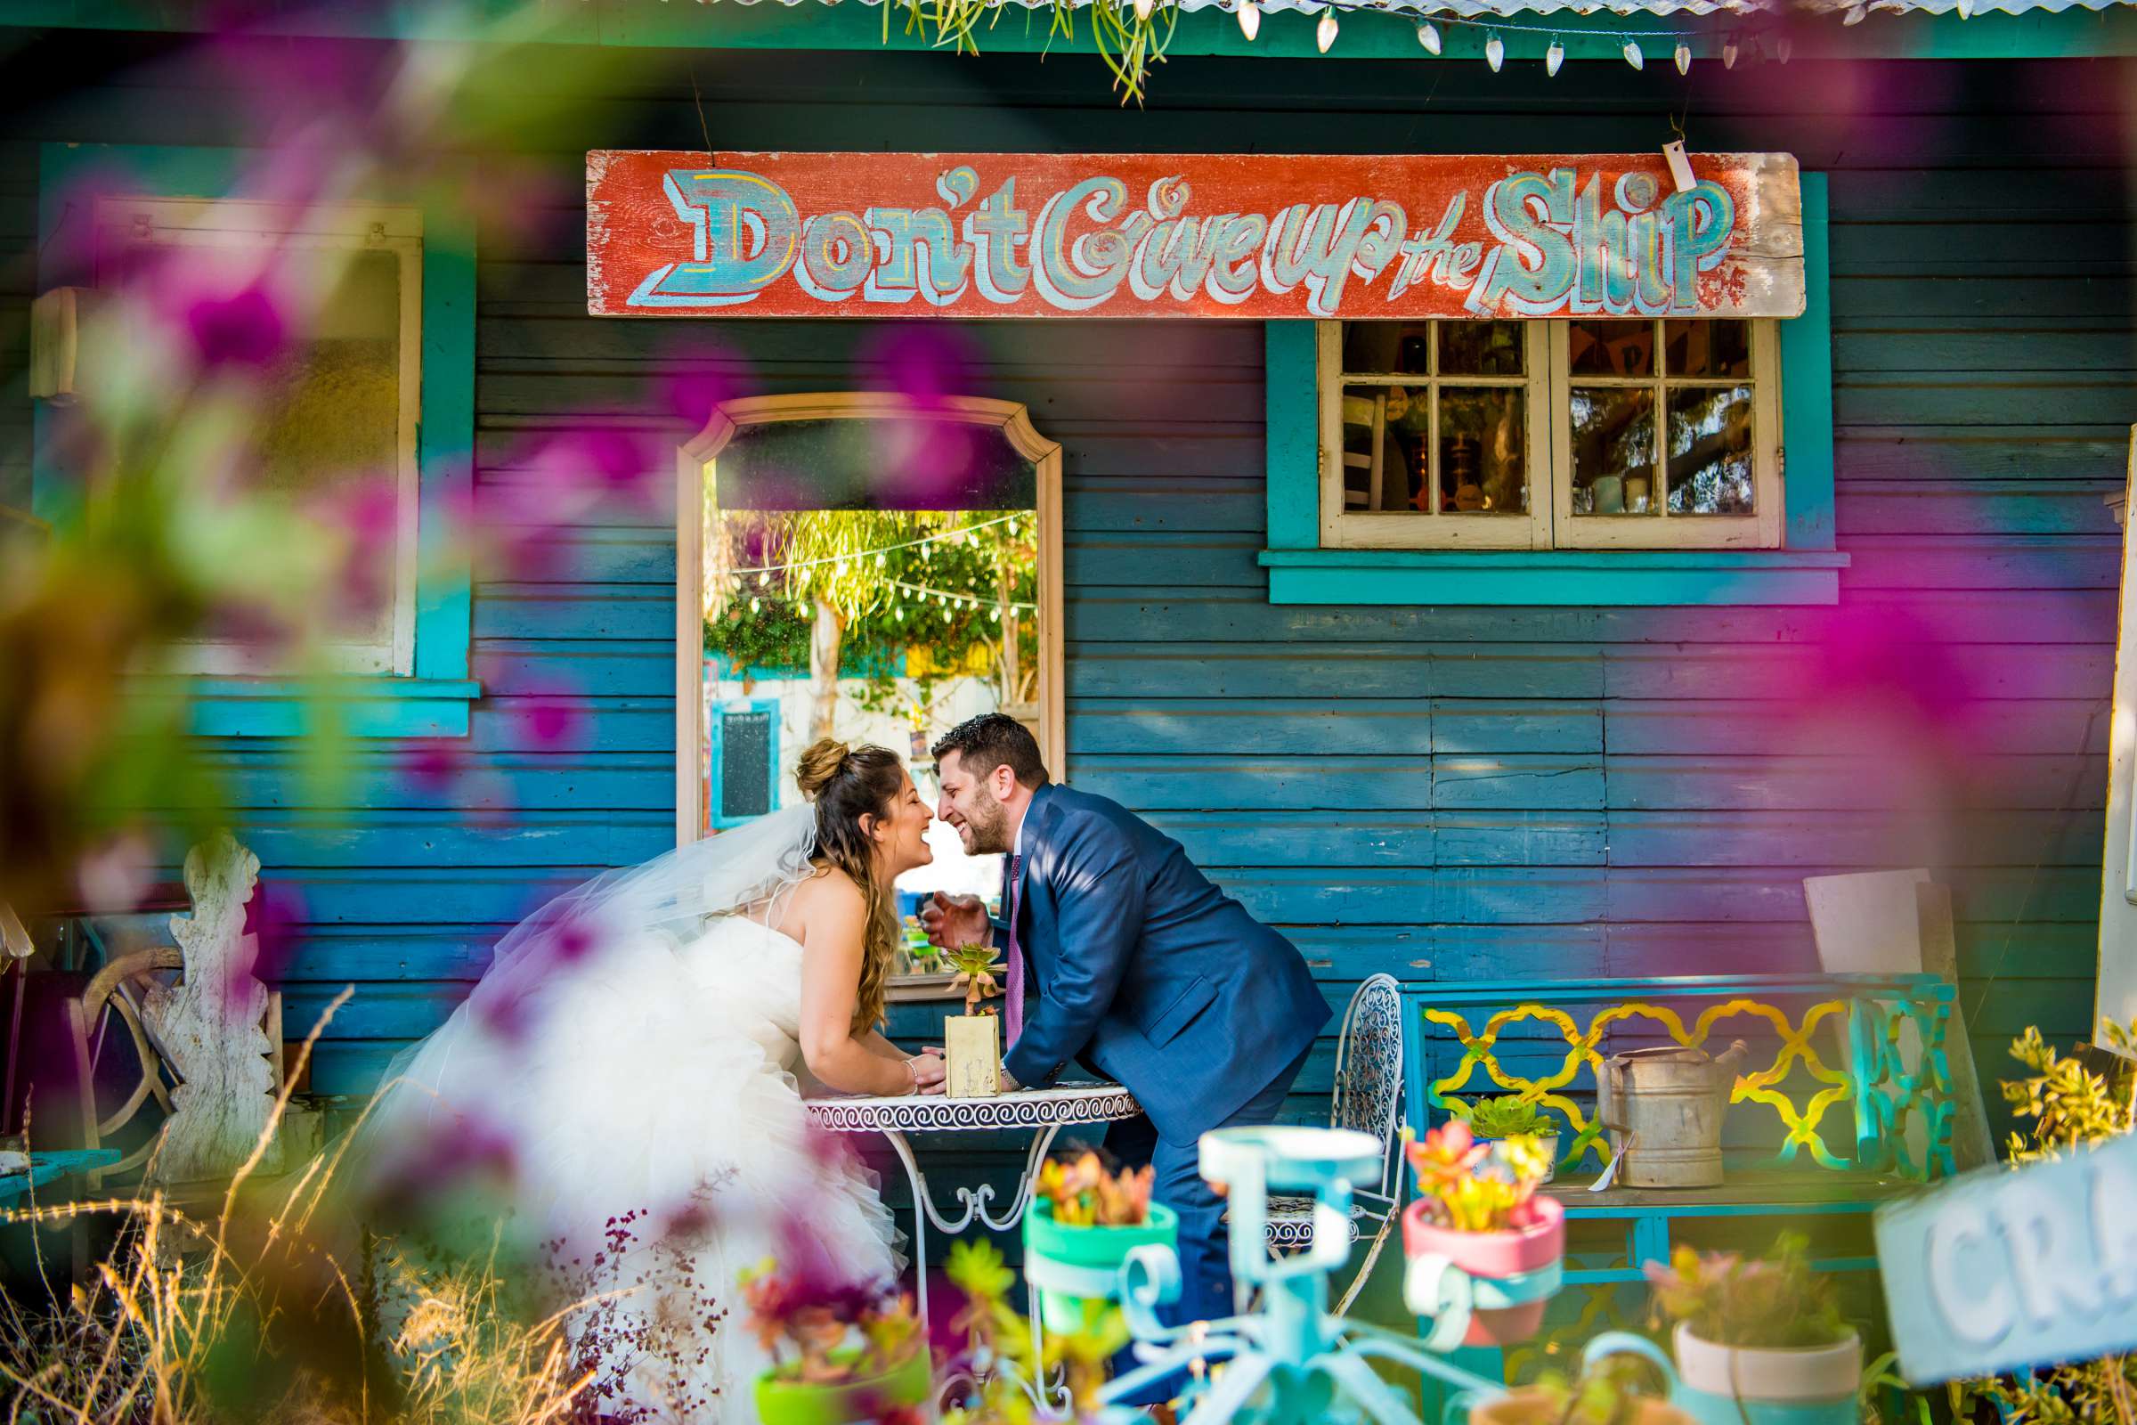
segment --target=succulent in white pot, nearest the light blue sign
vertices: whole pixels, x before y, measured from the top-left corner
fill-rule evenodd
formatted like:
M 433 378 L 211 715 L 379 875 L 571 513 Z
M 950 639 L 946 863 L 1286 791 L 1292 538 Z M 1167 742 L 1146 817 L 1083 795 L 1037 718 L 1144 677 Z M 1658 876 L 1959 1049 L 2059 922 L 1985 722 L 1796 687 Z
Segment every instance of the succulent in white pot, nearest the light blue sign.
M 1656 1325 L 1675 1322 L 1671 1399 L 1701 1419 L 1754 1425 L 1855 1421 L 1863 1344 L 1806 1250 L 1782 1233 L 1763 1258 L 1678 1248 L 1667 1267 L 1648 1265 Z

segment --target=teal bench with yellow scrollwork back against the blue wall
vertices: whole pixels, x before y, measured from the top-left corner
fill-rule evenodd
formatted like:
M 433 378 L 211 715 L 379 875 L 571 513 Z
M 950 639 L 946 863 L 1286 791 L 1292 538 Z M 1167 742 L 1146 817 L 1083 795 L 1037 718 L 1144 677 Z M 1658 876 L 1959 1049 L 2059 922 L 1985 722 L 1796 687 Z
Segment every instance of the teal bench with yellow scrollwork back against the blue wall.
M 1678 1224 L 1861 1224 L 1881 1201 L 1951 1175 L 1953 1000 L 1930 974 L 1406 983 L 1404 1113 L 1423 1132 L 1479 1096 L 1524 1094 L 1564 1119 L 1571 1147 L 1547 1192 L 1566 1205 L 1569 1228 L 1588 1222 L 1586 1237 L 1609 1243 L 1586 1265 L 1566 1260 L 1566 1284 L 1590 1288 L 1590 1322 L 1620 1284 L 1643 1280 L 1645 1263 L 1669 1258 Z M 1722 1186 L 1590 1192 L 1609 1162 L 1592 1109 L 1603 1058 L 1658 1043 L 1714 1040 L 1718 1051 L 1731 1038 L 1752 1055 L 1729 1092 Z M 1876 1265 L 1853 1250 L 1816 1260 L 1829 1271 Z

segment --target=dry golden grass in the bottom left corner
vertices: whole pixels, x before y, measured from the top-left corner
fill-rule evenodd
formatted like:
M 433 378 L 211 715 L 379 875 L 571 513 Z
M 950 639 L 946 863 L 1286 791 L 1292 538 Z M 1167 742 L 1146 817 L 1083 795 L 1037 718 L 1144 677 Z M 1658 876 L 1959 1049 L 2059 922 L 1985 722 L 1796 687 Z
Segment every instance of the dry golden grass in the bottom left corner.
M 327 1006 L 291 1081 L 346 998 Z M 543 1425 L 583 1412 L 596 1372 L 575 1359 L 564 1318 L 588 1301 L 532 1316 L 494 1243 L 472 1260 L 383 1252 L 365 1265 L 359 1239 L 323 1231 L 350 1134 L 288 1184 L 252 1181 L 288 1092 L 212 1222 L 160 1192 L 0 1213 L 111 1235 L 64 1301 L 0 1295 L 6 1425 Z M 357 1288 L 365 1275 L 370 1293 Z M 406 1305 L 387 1340 L 363 1305 L 380 1286 Z

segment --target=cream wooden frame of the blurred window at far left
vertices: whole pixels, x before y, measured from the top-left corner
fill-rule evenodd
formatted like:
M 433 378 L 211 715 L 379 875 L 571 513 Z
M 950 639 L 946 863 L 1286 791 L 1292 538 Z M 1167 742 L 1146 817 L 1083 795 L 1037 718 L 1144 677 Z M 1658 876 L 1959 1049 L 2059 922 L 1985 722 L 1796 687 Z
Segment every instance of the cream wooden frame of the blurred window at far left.
M 423 212 L 395 203 L 321 203 L 293 209 L 256 199 L 186 199 L 113 194 L 96 203 L 96 229 L 126 229 L 128 241 L 154 248 L 318 248 L 391 252 L 400 293 L 400 391 L 393 449 L 393 611 L 380 643 L 329 643 L 323 654 L 338 673 L 415 673 L 417 541 L 423 466 Z M 235 643 L 197 641 L 177 652 L 169 673 L 241 675 L 248 652 Z

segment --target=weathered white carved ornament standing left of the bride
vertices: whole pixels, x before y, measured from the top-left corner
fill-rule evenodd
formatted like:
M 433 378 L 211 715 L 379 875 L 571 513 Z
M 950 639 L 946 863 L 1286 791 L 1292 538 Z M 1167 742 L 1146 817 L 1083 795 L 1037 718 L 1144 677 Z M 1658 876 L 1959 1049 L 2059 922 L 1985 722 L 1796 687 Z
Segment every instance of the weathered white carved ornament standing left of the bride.
M 143 1019 L 180 1085 L 152 1164 L 158 1181 L 222 1177 L 267 1128 L 276 1081 L 261 1030 L 267 987 L 254 976 L 259 938 L 244 934 L 259 857 L 227 831 L 186 852 L 192 914 L 171 917 L 186 957 L 177 985 L 154 985 Z

